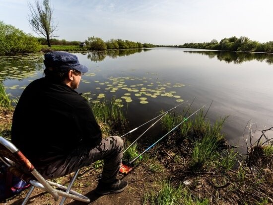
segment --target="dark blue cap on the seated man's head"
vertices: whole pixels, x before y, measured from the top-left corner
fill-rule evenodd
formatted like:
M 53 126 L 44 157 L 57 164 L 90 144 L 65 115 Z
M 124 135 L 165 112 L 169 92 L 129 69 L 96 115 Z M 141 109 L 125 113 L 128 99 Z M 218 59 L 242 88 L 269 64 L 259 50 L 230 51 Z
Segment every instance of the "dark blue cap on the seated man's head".
M 44 64 L 47 67 L 57 68 L 60 71 L 77 70 L 86 73 L 88 68 L 79 63 L 78 57 L 65 51 L 52 51 L 45 54 Z

